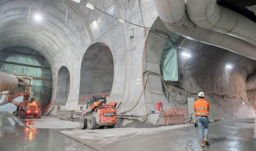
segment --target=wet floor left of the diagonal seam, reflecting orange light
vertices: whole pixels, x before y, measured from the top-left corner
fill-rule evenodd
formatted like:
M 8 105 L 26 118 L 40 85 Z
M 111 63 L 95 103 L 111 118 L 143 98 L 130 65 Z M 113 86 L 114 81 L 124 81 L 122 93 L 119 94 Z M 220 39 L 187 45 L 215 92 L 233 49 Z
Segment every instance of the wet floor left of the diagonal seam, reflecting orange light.
M 94 151 L 59 134 L 60 129 L 38 129 L 33 118 L 22 119 L 21 126 L 10 113 L 0 112 L 1 151 Z M 63 130 L 63 129 L 61 129 Z

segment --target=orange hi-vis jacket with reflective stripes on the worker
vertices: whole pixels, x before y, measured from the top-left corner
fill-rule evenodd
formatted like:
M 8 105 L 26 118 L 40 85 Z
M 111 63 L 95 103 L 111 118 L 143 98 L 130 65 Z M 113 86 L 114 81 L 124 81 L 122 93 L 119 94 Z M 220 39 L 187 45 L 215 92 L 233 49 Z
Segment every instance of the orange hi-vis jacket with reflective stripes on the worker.
M 193 108 L 195 111 L 195 115 L 209 116 L 210 107 L 208 101 L 199 98 L 194 102 Z

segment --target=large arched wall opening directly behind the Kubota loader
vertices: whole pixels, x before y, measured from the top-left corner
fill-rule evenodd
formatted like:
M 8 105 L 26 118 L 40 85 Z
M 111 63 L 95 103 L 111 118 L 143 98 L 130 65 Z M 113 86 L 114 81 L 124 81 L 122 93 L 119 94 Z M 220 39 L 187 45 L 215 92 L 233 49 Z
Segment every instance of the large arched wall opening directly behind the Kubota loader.
M 114 61 L 111 50 L 104 43 L 94 43 L 85 52 L 81 63 L 79 104 L 90 95 L 107 93 L 112 89 Z

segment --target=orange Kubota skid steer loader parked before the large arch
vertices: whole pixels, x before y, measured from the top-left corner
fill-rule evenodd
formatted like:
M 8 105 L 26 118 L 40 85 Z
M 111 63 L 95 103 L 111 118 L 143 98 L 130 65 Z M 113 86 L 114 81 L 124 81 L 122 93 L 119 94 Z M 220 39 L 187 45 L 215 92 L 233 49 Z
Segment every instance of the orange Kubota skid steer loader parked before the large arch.
M 114 128 L 116 125 L 116 102 L 107 104 L 101 96 L 93 96 L 86 100 L 86 109 L 82 110 L 81 129 Z

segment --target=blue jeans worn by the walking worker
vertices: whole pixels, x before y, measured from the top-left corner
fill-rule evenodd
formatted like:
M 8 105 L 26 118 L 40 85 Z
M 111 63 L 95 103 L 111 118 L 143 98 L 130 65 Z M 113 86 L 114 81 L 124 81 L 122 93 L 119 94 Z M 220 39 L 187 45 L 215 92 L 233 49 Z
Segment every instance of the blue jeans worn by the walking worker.
M 200 141 L 204 141 L 204 136 L 208 137 L 208 125 L 209 118 L 208 117 L 196 117 Z

